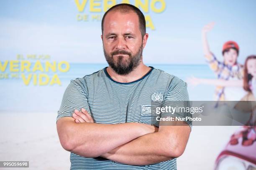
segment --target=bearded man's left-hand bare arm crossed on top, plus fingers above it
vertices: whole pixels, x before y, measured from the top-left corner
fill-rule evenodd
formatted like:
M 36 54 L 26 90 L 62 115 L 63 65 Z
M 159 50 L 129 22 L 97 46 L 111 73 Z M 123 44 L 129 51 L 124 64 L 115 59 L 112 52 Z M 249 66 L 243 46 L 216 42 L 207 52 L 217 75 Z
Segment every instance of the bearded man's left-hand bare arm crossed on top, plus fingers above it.
M 84 109 L 76 110 L 73 117 L 61 117 L 57 121 L 57 131 L 62 147 L 87 158 L 108 153 L 131 140 L 154 133 L 156 129 L 158 131 L 154 126 L 138 122 L 95 123 Z

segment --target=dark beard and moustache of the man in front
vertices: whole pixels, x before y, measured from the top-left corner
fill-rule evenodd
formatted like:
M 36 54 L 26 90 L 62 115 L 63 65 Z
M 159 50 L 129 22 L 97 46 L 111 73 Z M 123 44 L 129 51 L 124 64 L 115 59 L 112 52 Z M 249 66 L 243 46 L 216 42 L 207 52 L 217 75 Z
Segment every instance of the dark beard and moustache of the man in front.
M 141 62 L 141 56 L 143 51 L 143 44 L 139 47 L 135 55 L 125 50 L 115 50 L 108 55 L 103 46 L 105 58 L 111 68 L 119 75 L 127 75 L 132 72 Z M 117 61 L 114 61 L 114 55 L 118 55 Z M 128 59 L 122 55 L 128 55 Z

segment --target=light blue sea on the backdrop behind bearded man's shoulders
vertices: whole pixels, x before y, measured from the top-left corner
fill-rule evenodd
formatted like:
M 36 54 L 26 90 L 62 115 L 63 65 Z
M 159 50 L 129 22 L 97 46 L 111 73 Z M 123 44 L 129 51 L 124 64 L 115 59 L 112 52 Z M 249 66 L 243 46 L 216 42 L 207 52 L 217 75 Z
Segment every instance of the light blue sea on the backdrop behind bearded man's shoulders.
M 69 63 L 68 72 L 56 72 L 61 81 L 59 85 L 25 85 L 21 78 L 0 79 L 0 112 L 57 112 L 61 105 L 63 93 L 70 80 L 96 72 L 107 64 Z M 208 65 L 179 65 L 179 64 L 146 64 L 164 70 L 186 81 L 188 77 L 215 78 Z M 9 68 L 5 72 L 10 73 Z M 41 73 L 41 72 L 39 72 Z M 44 72 L 42 72 L 44 73 Z M 20 74 L 20 73 L 19 73 Z M 29 73 L 24 72 L 27 76 Z M 47 73 L 49 77 L 53 72 Z M 190 100 L 212 100 L 214 86 L 188 84 Z

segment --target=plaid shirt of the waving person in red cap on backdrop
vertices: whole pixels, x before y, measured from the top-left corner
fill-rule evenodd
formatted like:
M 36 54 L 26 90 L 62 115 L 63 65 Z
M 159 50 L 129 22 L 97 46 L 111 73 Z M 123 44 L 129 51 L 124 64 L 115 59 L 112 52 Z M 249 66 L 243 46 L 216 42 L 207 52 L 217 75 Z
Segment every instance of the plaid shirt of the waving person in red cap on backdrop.
M 224 62 L 217 60 L 214 54 L 205 55 L 205 58 L 210 66 L 210 68 L 215 72 L 218 79 L 229 80 L 230 78 L 237 78 L 238 80 L 243 79 L 243 65 L 236 64 L 233 66 L 225 65 Z M 216 101 L 225 100 L 223 86 L 217 86 L 215 88 L 215 97 Z

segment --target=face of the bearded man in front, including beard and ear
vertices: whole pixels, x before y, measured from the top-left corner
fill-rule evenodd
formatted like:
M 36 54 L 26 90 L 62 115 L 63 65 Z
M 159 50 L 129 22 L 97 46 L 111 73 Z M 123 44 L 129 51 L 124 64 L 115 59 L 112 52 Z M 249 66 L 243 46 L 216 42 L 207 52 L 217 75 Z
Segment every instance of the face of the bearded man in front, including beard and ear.
M 140 64 L 146 45 L 143 39 L 136 13 L 111 11 L 106 15 L 102 35 L 103 50 L 108 64 L 116 73 L 126 75 Z

